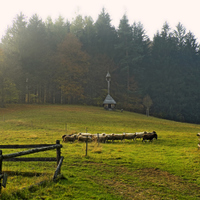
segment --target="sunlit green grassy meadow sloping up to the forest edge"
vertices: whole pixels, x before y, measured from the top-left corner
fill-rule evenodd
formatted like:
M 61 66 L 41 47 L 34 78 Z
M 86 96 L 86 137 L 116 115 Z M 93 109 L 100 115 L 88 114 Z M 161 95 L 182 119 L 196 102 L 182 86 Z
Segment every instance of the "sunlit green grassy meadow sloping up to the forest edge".
M 62 142 L 64 134 L 86 131 L 156 131 L 158 140 L 92 142 L 87 156 L 85 143 Z M 102 107 L 8 105 L 0 109 L 0 144 L 55 144 L 60 140 L 63 178 L 51 181 L 54 162 L 3 162 L 8 181 L 0 199 L 200 199 L 198 132 L 197 124 Z M 2 150 L 3 154 L 21 151 Z M 53 157 L 56 151 L 30 156 Z

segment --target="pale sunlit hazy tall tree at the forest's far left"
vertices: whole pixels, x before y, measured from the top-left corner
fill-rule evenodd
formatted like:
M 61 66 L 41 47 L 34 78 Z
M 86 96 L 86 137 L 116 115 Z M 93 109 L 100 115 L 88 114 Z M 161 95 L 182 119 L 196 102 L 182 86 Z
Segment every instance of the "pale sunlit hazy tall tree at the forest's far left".
M 25 77 L 22 70 L 24 55 L 27 52 L 27 20 L 20 13 L 13 20 L 13 24 L 2 38 L 2 49 L 5 55 L 6 66 L 9 68 L 9 77 L 20 90 L 20 101 L 23 102 L 25 95 Z M 16 76 L 17 74 L 17 76 Z

